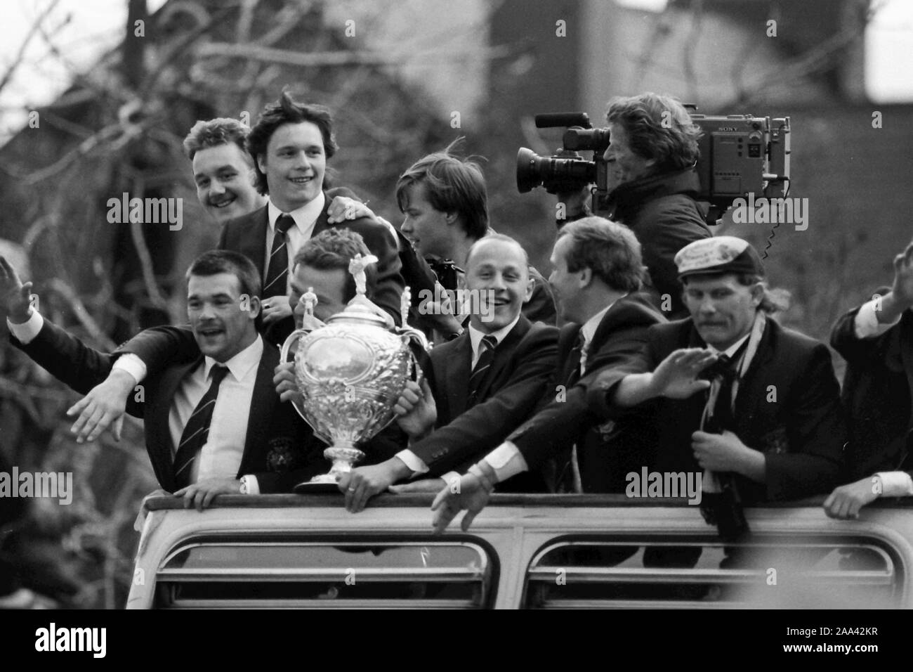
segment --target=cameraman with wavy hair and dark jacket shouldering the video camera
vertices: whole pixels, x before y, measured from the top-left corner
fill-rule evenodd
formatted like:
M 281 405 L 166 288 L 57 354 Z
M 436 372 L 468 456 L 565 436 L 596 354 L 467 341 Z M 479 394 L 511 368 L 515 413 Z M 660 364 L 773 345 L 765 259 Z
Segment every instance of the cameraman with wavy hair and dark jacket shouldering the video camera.
M 695 200 L 700 130 L 680 102 L 656 93 L 613 98 L 605 116 L 608 199 L 597 214 L 634 231 L 649 272 L 645 290 L 667 318 L 687 317 L 674 259 L 688 243 L 711 235 L 706 208 Z M 574 198 L 562 200 L 568 219 L 577 219 Z

